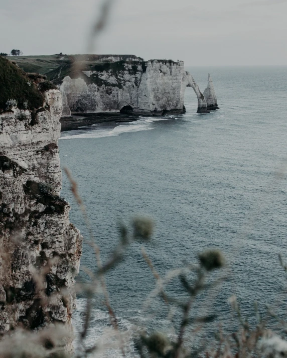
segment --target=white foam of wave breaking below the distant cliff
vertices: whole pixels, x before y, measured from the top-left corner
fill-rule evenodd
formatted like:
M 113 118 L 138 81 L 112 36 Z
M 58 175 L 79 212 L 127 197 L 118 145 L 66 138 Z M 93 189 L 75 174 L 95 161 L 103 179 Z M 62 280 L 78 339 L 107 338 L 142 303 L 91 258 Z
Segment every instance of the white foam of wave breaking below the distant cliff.
M 154 122 L 158 121 L 167 121 L 170 118 L 158 118 L 158 117 L 139 117 L 140 119 L 133 122 L 128 122 L 125 124 L 120 124 L 110 129 L 100 129 L 99 125 L 92 125 L 89 130 L 81 132 L 79 134 L 78 130 L 73 132 L 72 135 L 68 135 L 67 132 L 62 134 L 60 139 L 76 139 L 76 138 L 104 138 L 104 137 L 114 137 L 122 133 L 128 132 L 140 132 L 140 131 L 149 131 L 155 127 L 152 125 Z

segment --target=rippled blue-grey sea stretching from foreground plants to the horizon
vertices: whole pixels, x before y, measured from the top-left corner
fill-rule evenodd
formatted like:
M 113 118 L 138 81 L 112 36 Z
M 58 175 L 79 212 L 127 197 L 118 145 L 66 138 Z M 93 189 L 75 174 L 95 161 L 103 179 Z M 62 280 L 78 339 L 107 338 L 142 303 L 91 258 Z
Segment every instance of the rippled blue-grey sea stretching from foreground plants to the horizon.
M 153 242 L 145 244 L 145 250 L 162 277 L 187 262 L 196 263 L 198 253 L 207 248 L 225 254 L 225 270 L 208 279 L 220 274 L 227 279 L 201 293 L 192 309 L 193 317 L 217 315 L 213 323 L 201 324 L 190 334 L 191 344 L 199 346 L 213 339 L 220 326 L 226 334 L 238 327 L 229 302 L 232 295 L 251 325 L 254 300 L 262 315 L 266 305 L 282 317 L 286 312 L 286 275 L 278 254 L 287 261 L 287 67 L 187 70 L 202 92 L 211 73 L 220 110 L 197 114 L 195 93 L 187 88 L 184 115 L 64 132 L 59 146 L 61 165 L 78 183 L 103 261 L 118 242 L 118 221 L 129 224 L 137 214 L 156 222 Z M 94 271 L 94 249 L 69 187 L 64 175 L 62 196 L 71 203 L 71 222 L 84 236 L 81 265 Z M 180 310 L 175 309 L 170 320 L 161 299 L 148 299 L 156 281 L 141 246 L 128 247 L 125 261 L 107 274 L 111 306 L 123 330 L 145 325 L 149 331 L 173 335 Z M 86 279 L 86 273 L 81 277 Z M 167 291 L 186 298 L 177 279 Z M 85 297 L 79 295 L 76 330 L 84 311 Z M 268 324 L 274 327 L 276 322 Z M 108 339 L 100 338 L 108 326 L 103 297 L 98 296 L 87 343 Z M 135 356 L 132 341 L 129 349 L 128 356 Z M 109 351 L 109 356 L 119 355 Z

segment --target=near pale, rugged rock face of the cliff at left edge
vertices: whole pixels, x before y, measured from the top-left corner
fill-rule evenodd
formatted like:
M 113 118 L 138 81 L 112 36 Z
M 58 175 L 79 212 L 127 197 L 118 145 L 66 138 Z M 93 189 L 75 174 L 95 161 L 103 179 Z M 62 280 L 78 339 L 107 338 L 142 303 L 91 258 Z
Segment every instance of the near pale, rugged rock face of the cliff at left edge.
M 62 97 L 44 96 L 33 116 L 15 107 L 0 114 L 0 333 L 70 325 L 75 307 L 82 236 L 59 196 Z

